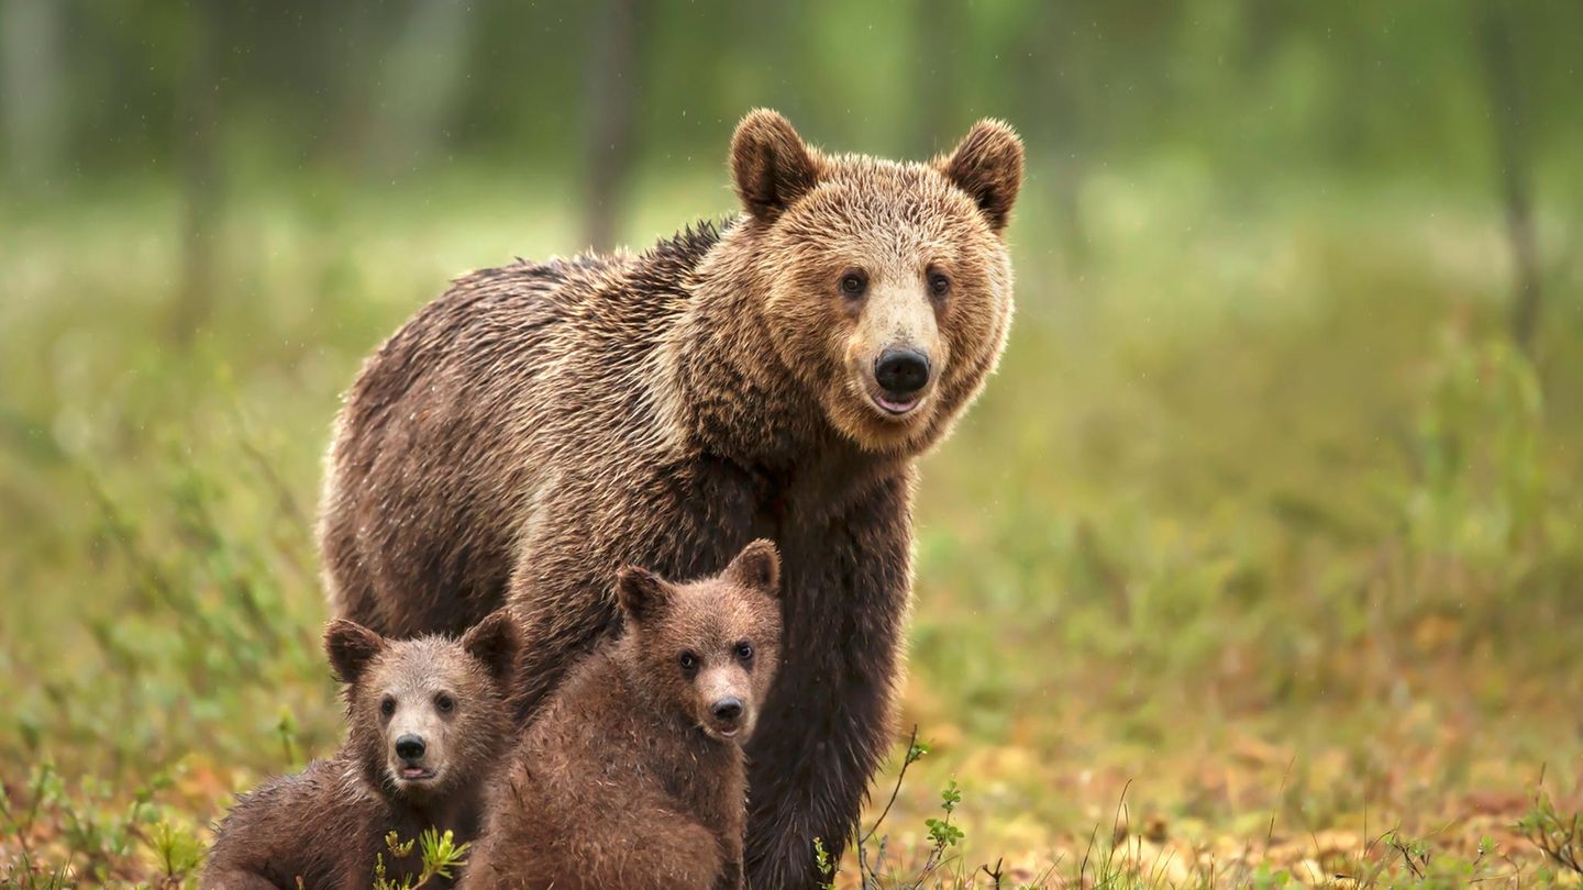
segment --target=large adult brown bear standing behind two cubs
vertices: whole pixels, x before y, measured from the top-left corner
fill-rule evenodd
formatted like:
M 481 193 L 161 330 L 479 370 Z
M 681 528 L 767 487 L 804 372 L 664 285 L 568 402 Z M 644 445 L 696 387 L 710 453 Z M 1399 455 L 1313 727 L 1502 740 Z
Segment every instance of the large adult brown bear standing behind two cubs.
M 457 280 L 363 369 L 320 545 L 336 613 L 388 635 L 524 622 L 521 713 L 670 578 L 782 553 L 785 649 L 749 746 L 752 887 L 839 854 L 891 733 L 913 461 L 994 369 L 1023 144 L 826 155 L 773 111 L 731 141 L 741 219 L 646 253 Z

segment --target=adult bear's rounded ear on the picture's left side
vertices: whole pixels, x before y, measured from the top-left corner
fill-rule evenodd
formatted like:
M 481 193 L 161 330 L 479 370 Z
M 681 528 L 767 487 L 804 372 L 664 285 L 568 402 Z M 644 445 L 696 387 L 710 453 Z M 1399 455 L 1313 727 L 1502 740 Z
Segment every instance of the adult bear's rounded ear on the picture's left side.
M 818 155 L 780 114 L 760 108 L 731 136 L 731 182 L 742 207 L 771 222 L 818 182 Z

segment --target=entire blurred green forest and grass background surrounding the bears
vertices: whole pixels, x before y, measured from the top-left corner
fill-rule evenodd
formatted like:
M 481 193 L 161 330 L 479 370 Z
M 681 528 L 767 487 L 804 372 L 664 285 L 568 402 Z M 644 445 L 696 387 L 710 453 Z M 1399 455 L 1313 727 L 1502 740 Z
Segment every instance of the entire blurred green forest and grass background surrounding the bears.
M 312 521 L 359 359 L 462 271 L 735 212 L 773 106 L 834 150 L 1027 141 L 1012 344 L 924 461 L 931 751 L 885 863 L 929 868 L 955 779 L 928 880 L 1566 880 L 1580 35 L 1543 0 L 0 0 L 0 879 L 192 882 L 233 792 L 334 749 Z

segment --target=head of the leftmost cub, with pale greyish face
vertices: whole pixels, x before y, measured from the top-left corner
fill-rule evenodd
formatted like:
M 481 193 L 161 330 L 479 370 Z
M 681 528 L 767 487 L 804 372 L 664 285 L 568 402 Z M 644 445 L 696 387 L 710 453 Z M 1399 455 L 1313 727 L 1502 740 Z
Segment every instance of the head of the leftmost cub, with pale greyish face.
M 510 681 L 521 645 L 505 610 L 461 640 L 386 640 L 336 619 L 325 649 L 347 684 L 347 740 L 382 793 L 437 801 L 475 787 L 511 740 Z

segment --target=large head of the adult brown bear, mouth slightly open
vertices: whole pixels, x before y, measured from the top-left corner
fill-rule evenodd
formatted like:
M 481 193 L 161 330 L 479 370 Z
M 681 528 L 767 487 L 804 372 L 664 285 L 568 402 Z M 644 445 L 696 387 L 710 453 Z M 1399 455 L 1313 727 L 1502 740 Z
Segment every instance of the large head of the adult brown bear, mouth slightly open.
M 763 321 L 831 424 L 877 453 L 937 440 L 1005 345 L 1023 143 L 980 120 L 948 155 L 826 155 L 774 111 L 731 141 Z

